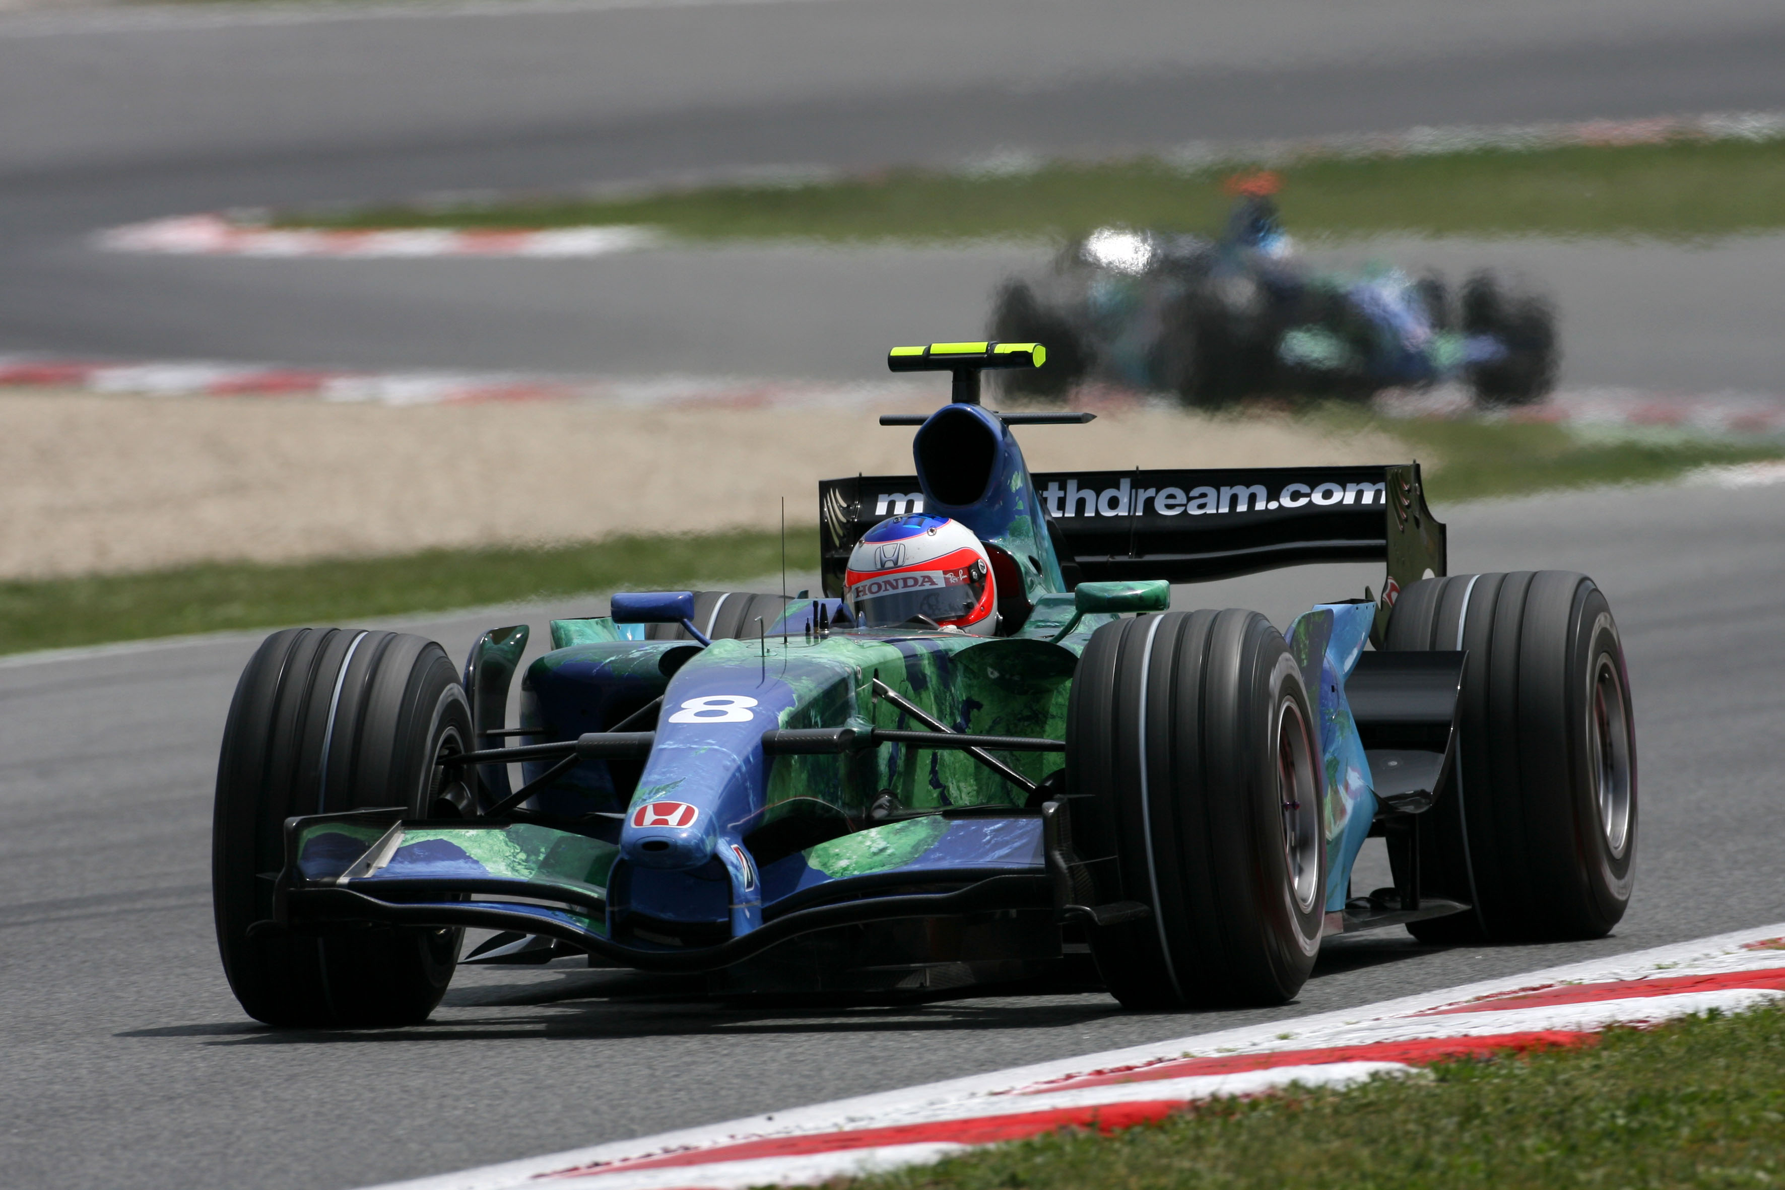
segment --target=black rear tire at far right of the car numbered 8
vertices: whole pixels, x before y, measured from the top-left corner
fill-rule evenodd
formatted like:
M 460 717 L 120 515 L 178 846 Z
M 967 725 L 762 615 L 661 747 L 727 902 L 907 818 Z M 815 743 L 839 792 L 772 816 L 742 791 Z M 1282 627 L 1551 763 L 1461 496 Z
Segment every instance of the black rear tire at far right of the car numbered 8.
M 1585 574 L 1407 587 L 1389 651 L 1467 649 L 1457 771 L 1421 821 L 1421 887 L 1474 912 L 1424 940 L 1598 938 L 1630 903 L 1637 746 L 1617 621 Z

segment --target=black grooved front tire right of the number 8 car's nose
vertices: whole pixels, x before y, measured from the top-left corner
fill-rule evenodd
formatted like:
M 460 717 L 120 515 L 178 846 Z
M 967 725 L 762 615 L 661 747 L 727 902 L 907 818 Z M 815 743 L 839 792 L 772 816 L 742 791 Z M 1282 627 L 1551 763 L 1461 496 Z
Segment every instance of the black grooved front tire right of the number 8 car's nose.
M 1141 921 L 1092 931 L 1126 1008 L 1282 1004 L 1321 946 L 1319 731 L 1283 635 L 1257 612 L 1166 612 L 1092 633 L 1066 785 L 1089 853 Z M 1083 812 L 1078 806 L 1085 806 Z

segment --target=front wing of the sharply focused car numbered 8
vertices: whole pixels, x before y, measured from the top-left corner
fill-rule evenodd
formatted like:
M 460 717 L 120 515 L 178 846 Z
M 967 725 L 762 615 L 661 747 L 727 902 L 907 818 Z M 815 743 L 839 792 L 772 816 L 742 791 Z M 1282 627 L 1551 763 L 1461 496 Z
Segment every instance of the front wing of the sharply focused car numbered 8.
M 1060 803 L 869 826 L 764 865 L 764 924 L 700 946 L 628 930 L 610 897 L 619 849 L 589 835 L 525 821 L 405 819 L 398 808 L 293 817 L 273 917 L 252 931 L 473 926 L 550 937 L 641 971 L 700 972 L 864 922 L 1041 912 L 1098 924 L 1144 915 L 1144 906 L 1073 903 L 1075 888 L 1092 885 L 1069 871 L 1062 830 Z

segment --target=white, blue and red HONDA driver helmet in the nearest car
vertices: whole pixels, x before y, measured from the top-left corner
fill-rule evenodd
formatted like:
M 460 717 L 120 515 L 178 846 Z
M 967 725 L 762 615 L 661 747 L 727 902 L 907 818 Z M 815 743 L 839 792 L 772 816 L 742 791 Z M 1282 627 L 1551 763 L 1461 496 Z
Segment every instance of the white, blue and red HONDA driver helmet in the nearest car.
M 998 626 L 998 592 L 985 546 L 960 521 L 887 517 L 850 553 L 843 598 L 862 628 L 959 628 L 980 637 Z

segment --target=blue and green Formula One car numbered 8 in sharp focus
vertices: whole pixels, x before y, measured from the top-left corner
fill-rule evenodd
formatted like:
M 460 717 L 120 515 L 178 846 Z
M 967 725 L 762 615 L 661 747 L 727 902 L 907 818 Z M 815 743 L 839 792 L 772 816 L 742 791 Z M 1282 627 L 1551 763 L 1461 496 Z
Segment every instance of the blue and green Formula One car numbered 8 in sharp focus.
M 934 996 L 1075 965 L 1132 1008 L 1273 1004 L 1323 935 L 1587 938 L 1631 888 L 1637 762 L 1592 580 L 1444 573 L 1414 464 L 1030 475 L 987 368 L 912 476 L 819 489 L 823 598 L 618 594 L 461 673 L 298 628 L 236 689 L 214 894 L 278 1026 L 423 1021 L 461 962 L 587 954 L 716 994 Z M 1287 632 L 1169 583 L 1380 558 Z M 1374 644 L 1374 649 L 1366 648 Z M 509 765 L 523 780 L 511 785 Z M 1351 888 L 1385 835 L 1394 887 Z

